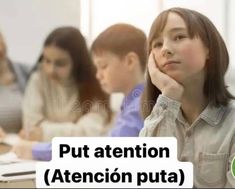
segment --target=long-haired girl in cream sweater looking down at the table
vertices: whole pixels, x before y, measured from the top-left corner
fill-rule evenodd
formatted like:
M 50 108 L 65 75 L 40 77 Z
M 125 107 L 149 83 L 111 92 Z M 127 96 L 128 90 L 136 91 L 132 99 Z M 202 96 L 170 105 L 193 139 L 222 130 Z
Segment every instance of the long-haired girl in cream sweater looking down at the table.
M 55 29 L 25 91 L 21 136 L 102 136 L 110 120 L 109 96 L 95 78 L 84 37 L 74 27 Z

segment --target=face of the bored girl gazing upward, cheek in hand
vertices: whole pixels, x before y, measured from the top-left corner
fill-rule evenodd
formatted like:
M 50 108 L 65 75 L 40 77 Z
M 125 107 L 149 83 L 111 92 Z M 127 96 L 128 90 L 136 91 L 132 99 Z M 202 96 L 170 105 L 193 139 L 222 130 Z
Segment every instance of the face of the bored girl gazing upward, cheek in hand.
M 205 80 L 208 49 L 199 37 L 190 38 L 184 20 L 169 13 L 166 25 L 151 43 L 158 68 L 181 84 Z

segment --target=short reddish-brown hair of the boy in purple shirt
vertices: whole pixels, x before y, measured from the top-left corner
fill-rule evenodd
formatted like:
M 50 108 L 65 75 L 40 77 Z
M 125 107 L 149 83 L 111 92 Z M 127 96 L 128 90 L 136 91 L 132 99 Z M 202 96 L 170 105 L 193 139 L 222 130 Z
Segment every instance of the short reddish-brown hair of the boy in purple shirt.
M 139 58 L 142 71 L 145 71 L 145 47 L 146 35 L 142 30 L 129 24 L 114 24 L 98 35 L 91 46 L 91 51 L 95 54 L 109 51 L 119 57 L 134 52 Z

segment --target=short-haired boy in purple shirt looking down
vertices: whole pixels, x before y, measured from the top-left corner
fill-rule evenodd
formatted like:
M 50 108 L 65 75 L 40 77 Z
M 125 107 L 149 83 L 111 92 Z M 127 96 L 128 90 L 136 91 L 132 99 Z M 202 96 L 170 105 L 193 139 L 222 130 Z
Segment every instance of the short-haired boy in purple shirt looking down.
M 145 43 L 143 31 L 120 23 L 104 30 L 92 44 L 96 78 L 102 89 L 125 96 L 110 136 L 138 136 L 143 127 L 140 96 L 144 88 Z

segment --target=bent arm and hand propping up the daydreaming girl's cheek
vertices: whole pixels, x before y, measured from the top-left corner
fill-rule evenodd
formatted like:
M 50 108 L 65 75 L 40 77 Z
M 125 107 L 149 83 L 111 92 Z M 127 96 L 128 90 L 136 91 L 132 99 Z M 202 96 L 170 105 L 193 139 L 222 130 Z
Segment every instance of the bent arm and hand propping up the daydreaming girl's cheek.
M 162 95 L 159 95 L 151 114 L 145 119 L 140 136 L 157 136 L 160 130 L 161 136 L 173 136 L 170 133 L 174 130 L 184 88 L 159 70 L 153 52 L 149 56 L 148 71 L 152 83 L 162 92 Z

